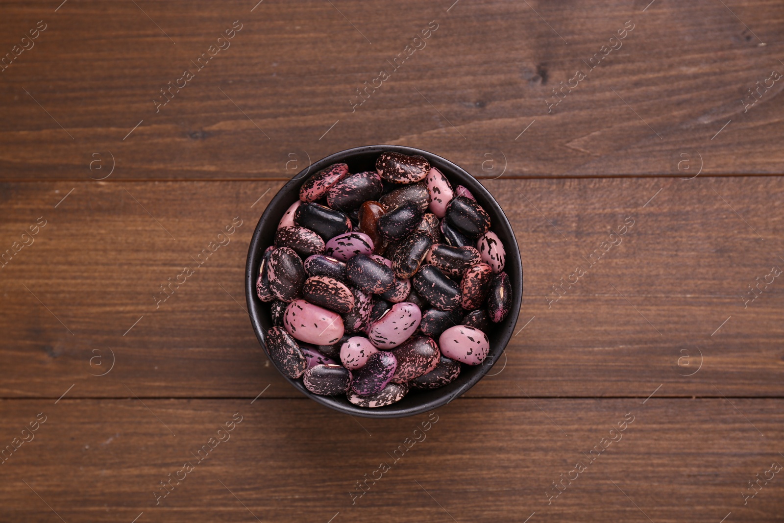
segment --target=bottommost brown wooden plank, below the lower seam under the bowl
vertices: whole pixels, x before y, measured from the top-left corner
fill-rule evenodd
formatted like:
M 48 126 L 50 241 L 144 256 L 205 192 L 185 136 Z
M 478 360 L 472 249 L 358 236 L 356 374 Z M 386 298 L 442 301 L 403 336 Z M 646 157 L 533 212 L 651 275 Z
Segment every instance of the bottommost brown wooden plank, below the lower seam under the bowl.
M 0 503 L 7 521 L 68 523 L 780 521 L 781 473 L 746 506 L 742 492 L 784 462 L 782 400 L 732 404 L 458 399 L 432 414 L 356 420 L 306 399 L 5 400 L 4 445 L 38 413 L 46 420 L 3 463 Z M 232 419 L 241 422 L 219 433 Z M 209 438 L 223 441 L 199 462 Z M 178 474 L 186 462 L 193 470 Z M 184 479 L 158 499 L 169 474 Z M 572 481 L 550 499 L 561 474 Z

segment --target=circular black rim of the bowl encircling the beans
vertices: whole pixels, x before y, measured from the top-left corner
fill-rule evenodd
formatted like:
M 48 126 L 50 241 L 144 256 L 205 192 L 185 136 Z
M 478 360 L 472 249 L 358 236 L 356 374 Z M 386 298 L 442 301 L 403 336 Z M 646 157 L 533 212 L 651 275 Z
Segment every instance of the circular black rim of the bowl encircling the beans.
M 495 347 L 491 347 L 490 354 L 488 354 L 488 358 L 482 362 L 481 370 L 476 372 L 474 376 L 470 376 L 470 378 L 463 383 L 458 390 L 454 390 L 456 387 L 451 387 L 452 385 L 456 385 L 456 382 L 448 383 L 445 387 L 440 387 L 444 390 L 445 394 L 439 396 L 437 398 L 432 398 L 429 401 L 423 401 L 419 405 L 412 405 L 406 408 L 395 408 L 397 403 L 392 405 L 387 405 L 385 407 L 378 407 L 374 409 L 366 409 L 362 407 L 358 407 L 357 405 L 348 404 L 344 405 L 343 403 L 339 402 L 335 397 L 332 396 L 321 396 L 319 394 L 313 394 L 310 390 L 307 390 L 302 383 L 299 383 L 299 380 L 295 380 L 289 378 L 289 376 L 285 376 L 281 372 L 281 376 L 288 380 L 292 386 L 299 390 L 302 394 L 307 396 L 308 398 L 317 401 L 321 405 L 325 405 L 330 409 L 334 409 L 339 412 L 344 412 L 351 416 L 361 416 L 365 418 L 401 418 L 405 416 L 415 416 L 416 414 L 421 414 L 423 412 L 428 412 L 433 409 L 437 409 L 442 405 L 448 404 L 452 399 L 459 396 L 459 394 L 463 394 L 466 390 L 470 390 L 471 387 L 481 380 L 485 375 L 488 373 L 492 366 L 495 365 L 495 362 L 498 361 L 501 354 L 504 353 L 506 350 L 506 346 L 509 344 L 510 338 L 512 337 L 511 332 L 514 332 L 514 328 L 517 325 L 518 317 L 520 314 L 521 304 L 522 304 L 522 296 L 523 296 L 523 267 L 522 267 L 522 258 L 520 255 L 520 248 L 517 245 L 517 238 L 514 235 L 514 229 L 509 223 L 509 220 L 506 218 L 506 213 L 503 212 L 501 205 L 495 200 L 495 198 L 490 194 L 490 192 L 481 184 L 479 181 L 470 173 L 468 173 L 465 169 L 456 165 L 453 162 L 450 162 L 446 158 L 442 158 L 441 156 L 431 153 L 430 151 L 423 151 L 421 149 L 417 149 L 415 147 L 407 147 L 404 145 L 364 145 L 360 147 L 352 147 L 350 149 L 346 149 L 343 151 L 339 151 L 333 154 L 329 154 L 325 156 L 325 158 L 321 158 L 317 162 L 313 162 L 307 166 L 306 169 L 303 169 L 296 176 L 293 176 L 291 180 L 281 187 L 278 192 L 274 195 L 274 197 L 267 203 L 266 209 L 262 212 L 261 216 L 259 217 L 259 222 L 256 223 L 256 228 L 253 231 L 253 235 L 251 241 L 248 246 L 248 257 L 245 262 L 245 300 L 248 303 L 248 313 L 250 317 L 250 321 L 253 327 L 253 331 L 256 332 L 256 338 L 259 340 L 259 343 L 263 350 L 265 351 L 265 356 L 267 356 L 267 349 L 266 349 L 266 342 L 265 342 L 265 333 L 263 330 L 263 326 L 260 322 L 260 300 L 258 296 L 256 296 L 256 278 L 257 274 L 254 271 L 254 267 L 260 263 L 260 258 L 263 255 L 263 245 L 261 245 L 261 237 L 262 237 L 262 224 L 271 220 L 274 223 L 273 227 L 278 226 L 278 221 L 280 220 L 280 216 L 271 216 L 272 209 L 276 206 L 274 204 L 280 202 L 281 200 L 290 198 L 290 192 L 293 189 L 297 189 L 297 194 L 299 194 L 299 186 L 305 180 L 307 174 L 309 173 L 318 173 L 319 170 L 324 169 L 328 165 L 332 165 L 335 163 L 342 163 L 346 162 L 347 159 L 351 157 L 357 156 L 358 154 L 370 154 L 370 153 L 378 153 L 381 154 L 385 151 L 394 151 L 401 154 L 408 154 L 410 155 L 419 155 L 423 156 L 430 162 L 431 166 L 436 167 L 437 169 L 441 170 L 442 173 L 445 173 L 445 176 L 448 176 L 452 173 L 457 173 L 458 177 L 464 178 L 464 180 L 459 180 L 459 185 L 464 185 L 471 191 L 472 194 L 475 196 L 477 194 L 480 195 L 481 200 L 483 200 L 482 205 L 483 207 L 490 206 L 494 211 L 492 214 L 497 216 L 498 219 L 501 220 L 501 223 L 497 223 L 497 220 L 494 218 L 494 227 L 493 230 L 497 233 L 499 230 L 498 227 L 505 229 L 510 238 L 513 240 L 514 247 L 510 250 L 510 245 L 504 245 L 506 251 L 506 266 L 509 265 L 510 254 L 512 255 L 511 258 L 517 260 L 517 263 L 520 265 L 520 274 L 515 274 L 517 278 L 512 278 L 510 275 L 510 281 L 512 284 L 512 306 L 509 311 L 508 318 L 514 318 L 513 321 L 510 322 L 504 329 L 506 332 L 503 333 L 501 336 L 502 340 L 499 340 L 500 343 L 496 343 Z M 450 180 L 452 181 L 452 180 Z M 480 199 L 480 198 L 477 198 Z M 488 205 L 485 205 L 487 202 Z M 290 204 L 289 204 L 290 205 Z M 506 272 L 506 267 L 505 267 Z M 508 274 L 508 273 L 507 273 Z M 514 314 L 514 317 L 512 316 Z M 489 365 L 485 365 L 488 360 L 490 361 Z M 274 368 L 280 372 L 277 365 L 274 365 Z M 458 380 L 459 381 L 459 378 Z M 438 390 L 438 389 L 432 389 Z M 449 394 L 452 393 L 452 394 Z

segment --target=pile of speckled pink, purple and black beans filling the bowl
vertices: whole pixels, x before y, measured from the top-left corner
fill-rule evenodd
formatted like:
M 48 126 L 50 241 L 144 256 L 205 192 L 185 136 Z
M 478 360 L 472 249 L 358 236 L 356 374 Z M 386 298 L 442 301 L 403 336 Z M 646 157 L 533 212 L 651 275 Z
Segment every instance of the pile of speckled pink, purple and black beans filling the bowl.
M 511 306 L 490 216 L 421 156 L 339 163 L 303 183 L 264 253 L 267 354 L 314 394 L 361 407 L 443 387 L 479 365 Z

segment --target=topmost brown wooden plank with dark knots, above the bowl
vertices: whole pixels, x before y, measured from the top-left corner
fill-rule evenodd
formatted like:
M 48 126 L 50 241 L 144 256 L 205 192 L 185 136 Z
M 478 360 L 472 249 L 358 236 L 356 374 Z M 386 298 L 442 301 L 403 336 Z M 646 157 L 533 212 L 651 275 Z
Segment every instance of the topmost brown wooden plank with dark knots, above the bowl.
M 98 178 L 111 153 L 115 178 L 284 179 L 367 143 L 489 177 L 502 162 L 506 176 L 682 176 L 681 154 L 706 174 L 781 173 L 784 83 L 753 105 L 747 91 L 784 71 L 780 2 L 253 3 L 5 2 L 2 53 L 46 29 L 0 73 L 0 176 Z M 230 47 L 197 71 L 234 20 Z M 595 53 L 608 54 L 589 64 Z

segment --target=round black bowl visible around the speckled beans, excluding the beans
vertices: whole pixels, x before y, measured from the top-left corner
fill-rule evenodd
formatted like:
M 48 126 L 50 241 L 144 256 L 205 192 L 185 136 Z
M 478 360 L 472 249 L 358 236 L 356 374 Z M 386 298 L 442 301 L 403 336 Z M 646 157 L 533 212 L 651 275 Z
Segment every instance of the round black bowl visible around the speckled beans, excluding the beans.
M 498 323 L 493 324 L 492 329 L 488 329 L 487 336 L 490 340 L 490 353 L 482 365 L 463 365 L 457 380 L 449 383 L 445 387 L 434 390 L 412 390 L 401 401 L 397 401 L 392 405 L 386 407 L 377 407 L 376 409 L 364 409 L 350 403 L 345 396 L 332 398 L 330 396 L 319 396 L 307 390 L 302 384 L 301 380 L 292 380 L 286 377 L 286 380 L 296 387 L 302 394 L 308 398 L 318 401 L 321 405 L 326 405 L 331 409 L 336 409 L 340 412 L 347 412 L 354 416 L 364 416 L 366 418 L 400 418 L 403 416 L 413 416 L 421 412 L 427 412 L 441 405 L 445 405 L 452 398 L 459 394 L 463 394 L 474 383 L 481 380 L 482 376 L 490 370 L 495 361 L 503 353 L 506 343 L 509 342 L 510 337 L 514 333 L 514 325 L 517 324 L 517 314 L 520 311 L 520 303 L 523 296 L 523 268 L 520 260 L 520 250 L 517 248 L 517 239 L 514 238 L 514 231 L 506 220 L 503 210 L 495 202 L 495 198 L 482 187 L 474 176 L 466 173 L 457 165 L 437 156 L 436 154 L 427 151 L 421 151 L 412 147 L 403 147 L 400 145 L 368 145 L 365 147 L 355 147 L 354 149 L 347 149 L 347 151 L 340 151 L 339 153 L 332 154 L 326 158 L 322 158 L 307 169 L 303 170 L 295 176 L 289 183 L 286 183 L 278 194 L 272 198 L 270 205 L 261 215 L 256 231 L 253 233 L 253 238 L 250 242 L 248 249 L 248 262 L 245 266 L 245 298 L 248 300 L 248 311 L 250 313 L 250 321 L 253 324 L 253 330 L 256 331 L 256 337 L 262 347 L 265 347 L 264 341 L 267 329 L 272 326 L 270 318 L 270 305 L 263 303 L 256 296 L 256 278 L 259 274 L 259 266 L 264 249 L 272 245 L 274 241 L 274 234 L 278 227 L 278 222 L 281 216 L 289 208 L 289 205 L 296 202 L 299 198 L 299 187 L 304 180 L 313 173 L 318 173 L 328 165 L 334 163 L 347 163 L 350 173 L 358 173 L 361 171 L 376 170 L 376 158 L 383 151 L 396 151 L 402 154 L 419 154 L 427 158 L 430 165 L 437 167 L 444 173 L 445 176 L 452 183 L 452 187 L 464 185 L 467 187 L 477 202 L 485 208 L 489 213 L 491 222 L 491 231 L 498 234 L 498 237 L 503 242 L 506 248 L 506 267 L 504 271 L 509 274 L 512 283 L 512 308 L 506 318 Z M 285 377 L 285 376 L 284 376 Z

